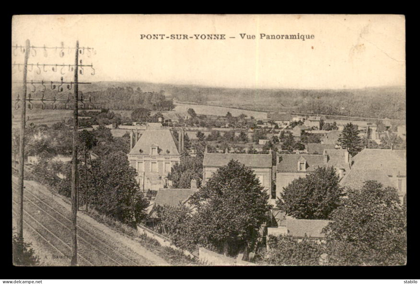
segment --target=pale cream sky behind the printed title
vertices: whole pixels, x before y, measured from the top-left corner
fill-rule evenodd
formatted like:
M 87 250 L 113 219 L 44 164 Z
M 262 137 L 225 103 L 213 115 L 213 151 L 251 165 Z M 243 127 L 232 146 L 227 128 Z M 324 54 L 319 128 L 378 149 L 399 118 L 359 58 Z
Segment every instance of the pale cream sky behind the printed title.
M 260 34 L 297 33 L 314 39 L 260 39 Z M 147 40 L 142 34 L 225 34 L 227 39 Z M 86 68 L 79 76 L 86 82 L 301 89 L 405 86 L 402 15 L 16 15 L 12 46 L 24 45 L 26 39 L 31 46 L 63 42 L 74 47 L 79 40 L 80 46 L 93 47 L 95 55 L 80 55 L 83 64 L 95 68 L 95 75 Z M 42 49 L 32 52 L 28 63 L 74 64 L 74 51 L 65 49 L 64 57 L 59 49 L 47 52 L 47 57 Z M 23 54 L 12 48 L 12 63 L 23 63 Z M 73 75 L 68 67 L 57 72 L 48 68 L 38 75 L 32 67 L 28 80 Z M 17 67 L 12 72 L 22 74 Z

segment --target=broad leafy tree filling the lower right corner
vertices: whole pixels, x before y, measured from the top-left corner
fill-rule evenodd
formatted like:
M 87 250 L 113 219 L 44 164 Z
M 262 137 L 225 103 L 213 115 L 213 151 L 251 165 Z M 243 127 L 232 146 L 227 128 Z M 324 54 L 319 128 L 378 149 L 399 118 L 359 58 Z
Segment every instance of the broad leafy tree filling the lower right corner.
M 395 188 L 366 181 L 349 189 L 324 228 L 325 251 L 334 265 L 404 265 L 407 222 Z

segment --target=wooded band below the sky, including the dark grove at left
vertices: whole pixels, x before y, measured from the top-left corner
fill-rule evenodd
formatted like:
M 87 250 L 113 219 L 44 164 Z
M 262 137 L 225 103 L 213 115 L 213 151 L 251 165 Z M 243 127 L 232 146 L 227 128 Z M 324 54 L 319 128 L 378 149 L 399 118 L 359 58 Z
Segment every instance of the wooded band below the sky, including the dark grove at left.
M 374 119 L 405 119 L 406 88 L 376 87 L 361 89 L 241 89 L 212 88 L 197 85 L 173 85 L 148 82 L 93 82 L 79 88 L 85 100 L 92 98 L 95 108 L 131 111 L 147 108 L 168 111 L 173 101 L 242 108 L 254 111 L 274 111 L 324 115 L 355 116 Z M 147 91 L 144 91 L 147 90 Z M 70 93 L 68 93 L 70 91 Z M 12 102 L 18 90 L 12 92 Z M 45 98 L 66 100 L 71 90 L 57 93 L 47 88 Z M 32 98 L 41 98 L 40 89 Z M 172 101 L 173 99 L 173 101 Z M 50 108 L 50 102 L 47 108 Z M 59 104 L 59 103 L 58 103 Z M 64 103 L 61 103 L 64 105 Z M 58 106 L 63 108 L 63 106 Z

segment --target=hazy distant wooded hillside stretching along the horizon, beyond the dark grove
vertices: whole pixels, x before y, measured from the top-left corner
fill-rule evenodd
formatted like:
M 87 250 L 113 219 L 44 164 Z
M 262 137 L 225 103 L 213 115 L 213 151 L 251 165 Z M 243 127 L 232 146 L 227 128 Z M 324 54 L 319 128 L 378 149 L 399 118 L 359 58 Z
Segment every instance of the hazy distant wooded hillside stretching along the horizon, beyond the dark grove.
M 197 85 L 172 85 L 147 82 L 95 82 L 91 85 L 83 85 L 79 89 L 87 95 L 90 92 L 95 92 L 99 96 L 101 91 L 109 88 L 114 90 L 131 88 L 133 92 L 139 92 L 137 90 L 139 88 L 141 92 L 158 93 L 159 95 L 166 96 L 166 98 L 173 98 L 180 102 L 230 106 L 256 111 L 298 112 L 389 119 L 405 119 L 406 114 L 405 87 L 299 90 L 211 88 Z M 108 98 L 102 99 L 104 103 L 109 101 Z M 115 102 L 120 99 L 126 100 L 127 97 L 113 96 L 113 103 L 111 104 L 113 107 L 110 105 L 110 108 L 115 108 Z M 127 106 L 133 107 L 132 103 L 127 104 Z M 126 105 L 126 103 L 123 103 L 123 105 Z

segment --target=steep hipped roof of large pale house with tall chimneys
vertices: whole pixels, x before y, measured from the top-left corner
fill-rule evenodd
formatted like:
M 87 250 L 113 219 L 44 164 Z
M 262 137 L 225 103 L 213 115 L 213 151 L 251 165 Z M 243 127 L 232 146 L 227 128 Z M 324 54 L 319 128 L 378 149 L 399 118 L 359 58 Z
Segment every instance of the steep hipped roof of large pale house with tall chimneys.
M 159 155 L 179 155 L 176 142 L 169 129 L 145 130 L 136 145 L 131 149 L 129 155 L 150 155 L 151 145 L 159 147 Z

